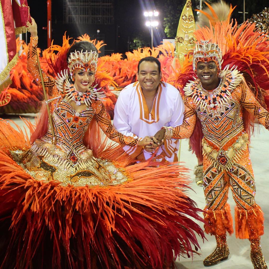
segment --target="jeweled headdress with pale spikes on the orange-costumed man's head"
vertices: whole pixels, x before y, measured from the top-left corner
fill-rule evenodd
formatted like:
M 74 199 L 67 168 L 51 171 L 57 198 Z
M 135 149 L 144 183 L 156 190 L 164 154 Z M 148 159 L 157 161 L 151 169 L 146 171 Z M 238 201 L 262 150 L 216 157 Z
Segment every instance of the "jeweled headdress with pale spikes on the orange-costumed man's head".
M 198 62 L 210 62 L 213 61 L 217 65 L 218 74 L 221 71 L 222 52 L 217 44 L 211 43 L 209 40 L 200 40 L 196 43 L 193 51 L 193 71 L 197 71 Z

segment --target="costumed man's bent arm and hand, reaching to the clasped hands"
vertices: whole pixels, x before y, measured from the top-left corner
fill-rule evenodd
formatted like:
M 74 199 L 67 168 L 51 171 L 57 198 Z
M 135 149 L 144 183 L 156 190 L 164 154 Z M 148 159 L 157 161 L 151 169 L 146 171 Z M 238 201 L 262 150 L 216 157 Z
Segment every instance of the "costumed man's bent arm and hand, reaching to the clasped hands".
M 193 133 L 196 124 L 196 112 L 194 107 L 192 107 L 193 102 L 190 97 L 184 97 L 185 112 L 183 123 L 176 127 L 166 127 L 164 126 L 160 131 L 158 131 L 154 137 L 159 141 L 161 139 L 183 139 L 190 138 Z

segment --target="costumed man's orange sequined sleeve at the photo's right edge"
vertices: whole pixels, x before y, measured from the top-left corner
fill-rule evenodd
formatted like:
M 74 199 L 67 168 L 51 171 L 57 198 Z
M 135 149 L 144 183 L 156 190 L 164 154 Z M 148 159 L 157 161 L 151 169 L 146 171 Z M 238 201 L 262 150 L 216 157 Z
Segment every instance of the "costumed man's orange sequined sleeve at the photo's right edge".
M 240 84 L 233 93 L 242 107 L 254 115 L 266 129 L 269 129 L 269 112 L 260 105 L 249 88 Z

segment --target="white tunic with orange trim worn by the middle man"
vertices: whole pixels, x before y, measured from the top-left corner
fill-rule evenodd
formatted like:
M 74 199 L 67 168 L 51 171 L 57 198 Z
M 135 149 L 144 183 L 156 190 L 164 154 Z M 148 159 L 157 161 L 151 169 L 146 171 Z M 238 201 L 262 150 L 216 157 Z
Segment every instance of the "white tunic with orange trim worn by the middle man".
M 126 136 L 145 137 L 154 136 L 162 126 L 178 126 L 183 122 L 184 104 L 179 91 L 172 85 L 161 82 L 155 96 L 153 107 L 148 111 L 146 99 L 139 82 L 125 87 L 119 94 L 114 110 L 114 126 Z M 179 141 L 165 140 L 157 154 L 156 159 L 167 161 L 177 160 Z M 152 153 L 141 147 L 124 146 L 123 149 L 132 158 L 145 159 Z

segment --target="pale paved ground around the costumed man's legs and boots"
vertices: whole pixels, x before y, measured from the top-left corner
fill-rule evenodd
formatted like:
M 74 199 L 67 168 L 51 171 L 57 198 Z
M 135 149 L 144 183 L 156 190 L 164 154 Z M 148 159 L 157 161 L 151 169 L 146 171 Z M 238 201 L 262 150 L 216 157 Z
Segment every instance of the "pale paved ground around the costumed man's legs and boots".
M 34 122 L 34 115 L 30 116 L 32 122 Z M 8 116 L 13 121 L 15 121 L 18 125 L 22 126 L 22 121 L 19 117 Z M 261 238 L 261 246 L 263 248 L 263 253 L 267 264 L 269 264 L 269 133 L 263 126 L 256 126 L 256 131 L 254 136 L 252 136 L 251 143 L 251 160 L 253 164 L 253 170 L 256 178 L 256 187 L 257 187 L 257 195 L 256 201 L 261 206 L 264 211 L 265 217 L 265 232 L 264 236 Z M 260 128 L 260 131 L 258 129 Z M 193 170 L 194 166 L 197 164 L 197 160 L 195 156 L 188 151 L 188 141 L 183 140 L 181 145 L 181 154 L 180 161 L 184 161 L 185 165 Z M 191 172 L 192 179 L 194 179 L 193 172 Z M 193 192 L 190 192 L 190 196 L 193 200 L 195 200 L 200 208 L 204 208 L 204 195 L 203 188 L 196 185 L 193 182 L 192 185 Z M 234 206 L 235 203 L 232 199 L 231 192 L 229 193 L 229 203 L 232 208 L 232 214 L 234 215 Z M 180 257 L 178 261 L 176 261 L 176 266 L 178 269 L 183 268 L 205 268 L 203 266 L 203 259 L 210 254 L 215 249 L 215 238 L 213 236 L 207 236 L 206 242 L 199 241 L 201 250 L 201 255 L 195 255 L 194 259 L 185 259 Z M 230 249 L 229 259 L 221 262 L 220 264 L 214 266 L 214 269 L 220 268 L 236 268 L 236 269 L 248 269 L 253 268 L 249 254 L 250 254 L 250 243 L 247 239 L 240 240 L 236 239 L 235 235 L 232 235 L 228 238 L 228 245 Z

